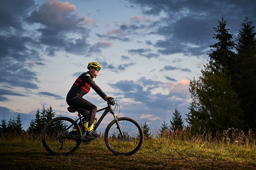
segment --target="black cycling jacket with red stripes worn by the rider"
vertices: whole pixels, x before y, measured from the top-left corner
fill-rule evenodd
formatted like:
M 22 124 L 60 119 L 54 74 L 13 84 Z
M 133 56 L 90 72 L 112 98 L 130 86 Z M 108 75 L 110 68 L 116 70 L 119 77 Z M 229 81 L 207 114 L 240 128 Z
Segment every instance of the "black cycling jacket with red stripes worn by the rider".
M 93 89 L 101 98 L 105 99 L 106 94 L 97 86 L 94 82 L 93 76 L 89 71 L 82 73 L 74 82 L 71 89 L 67 93 L 66 101 L 71 100 L 77 96 L 83 96 L 87 94 L 90 89 Z

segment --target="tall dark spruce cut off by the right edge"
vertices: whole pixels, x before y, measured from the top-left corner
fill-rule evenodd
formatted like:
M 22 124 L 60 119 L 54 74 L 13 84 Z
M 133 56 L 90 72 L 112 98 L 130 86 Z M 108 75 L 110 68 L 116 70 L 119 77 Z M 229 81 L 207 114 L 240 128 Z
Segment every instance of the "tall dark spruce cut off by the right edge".
M 241 101 L 246 129 L 256 130 L 256 37 L 248 16 L 243 19 L 236 39 L 236 64 L 232 75 L 234 90 Z

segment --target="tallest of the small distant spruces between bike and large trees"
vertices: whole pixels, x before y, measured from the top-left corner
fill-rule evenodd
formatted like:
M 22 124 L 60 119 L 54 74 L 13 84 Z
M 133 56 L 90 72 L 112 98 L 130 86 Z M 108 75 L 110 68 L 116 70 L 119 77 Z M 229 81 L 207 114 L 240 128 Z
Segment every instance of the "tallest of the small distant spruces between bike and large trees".
M 170 120 L 171 126 L 170 129 L 171 130 L 182 130 L 183 129 L 183 123 L 184 121 L 182 120 L 180 111 L 177 109 L 177 107 L 174 108 L 174 112 L 173 112 L 173 117 L 172 120 Z

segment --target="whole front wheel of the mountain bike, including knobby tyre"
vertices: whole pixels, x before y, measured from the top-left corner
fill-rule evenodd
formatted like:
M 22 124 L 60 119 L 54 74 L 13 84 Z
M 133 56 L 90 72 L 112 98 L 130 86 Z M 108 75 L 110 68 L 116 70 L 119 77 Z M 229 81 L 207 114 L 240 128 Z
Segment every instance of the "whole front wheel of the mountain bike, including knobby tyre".
M 133 155 L 143 143 L 141 126 L 132 118 L 119 117 L 117 119 L 123 137 L 120 134 L 116 120 L 106 127 L 104 139 L 107 148 L 115 155 Z

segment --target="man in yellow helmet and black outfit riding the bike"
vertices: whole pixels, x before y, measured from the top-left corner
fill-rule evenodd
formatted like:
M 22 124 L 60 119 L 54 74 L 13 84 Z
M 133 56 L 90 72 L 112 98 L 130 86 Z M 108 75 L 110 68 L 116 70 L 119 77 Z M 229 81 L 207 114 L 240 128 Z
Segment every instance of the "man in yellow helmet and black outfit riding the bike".
M 88 121 L 88 128 L 86 135 L 93 137 L 101 137 L 100 134 L 93 130 L 93 122 L 95 119 L 97 107 L 89 102 L 88 100 L 83 99 L 83 95 L 87 94 L 92 88 L 102 99 L 109 101 L 110 104 L 114 103 L 114 98 L 107 96 L 99 86 L 94 82 L 94 78 L 98 76 L 99 71 L 101 70 L 101 65 L 98 62 L 89 62 L 87 66 L 88 71 L 82 73 L 74 82 L 71 89 L 67 93 L 66 102 L 69 106 L 79 108 L 80 113 L 85 116 L 82 119 L 82 122 L 79 122 L 79 126 L 82 127 L 84 121 Z M 75 134 L 77 129 L 73 129 L 70 134 Z

